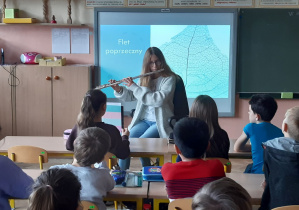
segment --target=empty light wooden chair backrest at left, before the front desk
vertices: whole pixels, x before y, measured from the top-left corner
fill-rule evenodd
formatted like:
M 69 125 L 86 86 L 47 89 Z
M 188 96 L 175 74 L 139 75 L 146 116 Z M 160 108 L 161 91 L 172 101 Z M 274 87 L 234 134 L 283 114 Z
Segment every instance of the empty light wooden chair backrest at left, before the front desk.
M 43 169 L 43 163 L 48 162 L 48 153 L 40 147 L 14 146 L 8 149 L 8 157 L 14 162 L 39 163 Z

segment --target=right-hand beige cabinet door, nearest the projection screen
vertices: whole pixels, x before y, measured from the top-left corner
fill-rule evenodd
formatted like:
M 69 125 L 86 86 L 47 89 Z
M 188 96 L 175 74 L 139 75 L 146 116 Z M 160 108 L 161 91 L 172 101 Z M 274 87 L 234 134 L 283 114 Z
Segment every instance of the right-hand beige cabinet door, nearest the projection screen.
M 53 136 L 73 128 L 81 102 L 90 89 L 90 66 L 53 67 Z

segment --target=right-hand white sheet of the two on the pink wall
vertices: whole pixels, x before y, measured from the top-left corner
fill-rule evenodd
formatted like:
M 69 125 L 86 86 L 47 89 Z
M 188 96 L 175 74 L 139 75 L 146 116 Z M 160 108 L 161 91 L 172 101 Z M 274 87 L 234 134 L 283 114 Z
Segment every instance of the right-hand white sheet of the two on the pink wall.
M 89 54 L 89 29 L 71 29 L 71 52 Z

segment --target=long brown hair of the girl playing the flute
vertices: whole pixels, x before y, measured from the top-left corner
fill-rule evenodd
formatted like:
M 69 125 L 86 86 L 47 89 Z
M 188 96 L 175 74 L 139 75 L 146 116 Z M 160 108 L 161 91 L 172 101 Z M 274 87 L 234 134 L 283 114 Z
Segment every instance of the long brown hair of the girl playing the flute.
M 141 74 L 151 72 L 150 62 L 151 62 L 151 57 L 153 55 L 157 56 L 159 61 L 161 62 L 160 69 L 164 69 L 164 71 L 159 73 L 162 77 L 169 77 L 170 75 L 174 75 L 173 71 L 170 69 L 170 67 L 166 63 L 166 60 L 165 60 L 165 57 L 164 57 L 162 51 L 157 47 L 150 47 L 146 50 L 144 57 L 143 57 Z M 150 80 L 151 80 L 151 77 L 141 77 L 140 85 L 144 86 L 144 87 L 149 87 Z

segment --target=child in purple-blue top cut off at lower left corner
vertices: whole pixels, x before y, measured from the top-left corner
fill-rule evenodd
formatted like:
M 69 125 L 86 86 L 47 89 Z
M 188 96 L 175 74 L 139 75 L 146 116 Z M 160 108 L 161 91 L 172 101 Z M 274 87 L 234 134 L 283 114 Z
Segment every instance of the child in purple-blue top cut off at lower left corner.
M 12 160 L 0 155 L 0 209 L 11 210 L 9 198 L 28 198 L 33 179 Z

